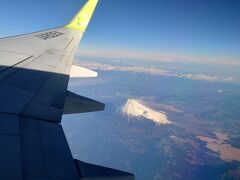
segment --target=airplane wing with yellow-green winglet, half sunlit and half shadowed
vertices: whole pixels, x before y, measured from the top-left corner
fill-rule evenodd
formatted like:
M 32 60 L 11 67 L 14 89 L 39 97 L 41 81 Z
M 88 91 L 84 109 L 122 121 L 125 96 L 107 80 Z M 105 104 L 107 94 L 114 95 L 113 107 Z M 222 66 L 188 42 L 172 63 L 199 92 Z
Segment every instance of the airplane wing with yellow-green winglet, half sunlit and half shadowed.
M 88 0 L 67 26 L 0 39 L 0 179 L 134 178 L 74 160 L 60 124 L 63 113 L 104 109 L 67 91 L 96 5 Z

